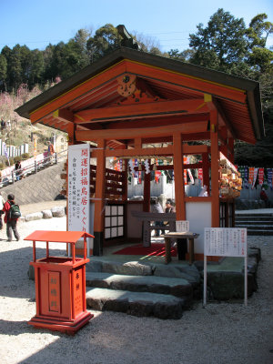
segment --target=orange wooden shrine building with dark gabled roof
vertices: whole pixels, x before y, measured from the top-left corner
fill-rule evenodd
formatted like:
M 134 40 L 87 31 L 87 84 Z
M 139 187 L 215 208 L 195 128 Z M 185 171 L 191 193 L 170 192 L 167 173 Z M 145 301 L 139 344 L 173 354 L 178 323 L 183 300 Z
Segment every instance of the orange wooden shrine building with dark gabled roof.
M 234 166 L 235 139 L 255 144 L 264 136 L 258 82 L 201 66 L 120 47 L 74 76 L 18 107 L 20 116 L 63 132 L 69 146 L 89 144 L 88 204 L 94 227 L 94 255 L 117 241 L 141 241 L 150 211 L 150 176 L 144 173 L 144 200 L 128 201 L 127 176 L 134 170 L 173 170 L 176 219 L 204 227 L 233 227 L 234 198 L 241 180 Z M 184 157 L 196 156 L 186 165 Z M 107 167 L 116 158 L 122 169 Z M 206 197 L 187 197 L 184 170 L 201 168 Z M 69 209 L 66 170 L 67 207 Z M 71 208 L 71 207 L 70 207 Z M 79 212 L 81 214 L 81 212 Z M 69 211 L 67 212 L 67 216 Z M 87 231 L 93 233 L 93 231 Z

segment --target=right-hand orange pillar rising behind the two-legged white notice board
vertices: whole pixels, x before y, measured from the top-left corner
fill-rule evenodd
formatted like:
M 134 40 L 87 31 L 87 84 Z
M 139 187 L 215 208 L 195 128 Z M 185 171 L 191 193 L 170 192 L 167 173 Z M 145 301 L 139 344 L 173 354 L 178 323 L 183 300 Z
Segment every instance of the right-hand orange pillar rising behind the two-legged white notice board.
M 219 186 L 218 186 L 218 115 L 217 110 L 210 111 L 210 153 L 211 153 L 211 227 L 219 227 Z

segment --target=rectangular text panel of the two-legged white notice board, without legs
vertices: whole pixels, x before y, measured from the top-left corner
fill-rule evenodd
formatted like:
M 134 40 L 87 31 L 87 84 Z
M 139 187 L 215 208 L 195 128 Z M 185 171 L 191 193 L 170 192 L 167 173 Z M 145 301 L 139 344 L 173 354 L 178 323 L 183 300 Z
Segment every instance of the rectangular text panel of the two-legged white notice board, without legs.
M 247 257 L 247 228 L 205 227 L 206 256 Z

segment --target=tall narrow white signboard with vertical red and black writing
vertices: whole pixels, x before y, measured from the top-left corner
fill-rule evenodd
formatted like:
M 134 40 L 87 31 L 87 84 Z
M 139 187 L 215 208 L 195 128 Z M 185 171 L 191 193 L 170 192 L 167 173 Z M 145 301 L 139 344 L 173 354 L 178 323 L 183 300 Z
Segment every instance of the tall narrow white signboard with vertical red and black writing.
M 68 147 L 68 231 L 90 231 L 90 146 Z M 87 243 L 88 243 L 87 239 Z M 89 256 L 87 244 L 87 256 Z

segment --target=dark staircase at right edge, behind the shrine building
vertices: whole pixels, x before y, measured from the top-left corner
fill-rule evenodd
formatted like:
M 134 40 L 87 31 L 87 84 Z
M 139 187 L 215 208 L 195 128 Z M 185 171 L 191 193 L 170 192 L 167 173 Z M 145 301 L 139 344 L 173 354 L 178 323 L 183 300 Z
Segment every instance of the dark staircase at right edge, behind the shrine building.
M 248 236 L 273 235 L 273 213 L 236 214 L 235 227 L 247 227 Z

